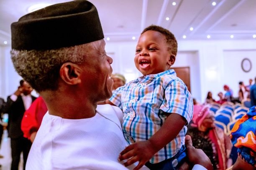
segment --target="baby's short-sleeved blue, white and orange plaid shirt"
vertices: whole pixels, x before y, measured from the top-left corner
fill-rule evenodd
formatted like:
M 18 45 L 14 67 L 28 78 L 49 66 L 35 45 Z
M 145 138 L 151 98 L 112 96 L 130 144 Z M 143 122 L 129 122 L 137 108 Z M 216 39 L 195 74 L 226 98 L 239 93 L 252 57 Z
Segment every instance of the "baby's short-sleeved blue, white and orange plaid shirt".
M 138 77 L 119 87 L 110 98 L 124 112 L 123 134 L 128 143 L 148 140 L 158 131 L 170 113 L 182 115 L 190 122 L 193 101 L 186 85 L 174 70 Z M 184 145 L 187 126 L 159 150 L 150 163 L 172 158 Z

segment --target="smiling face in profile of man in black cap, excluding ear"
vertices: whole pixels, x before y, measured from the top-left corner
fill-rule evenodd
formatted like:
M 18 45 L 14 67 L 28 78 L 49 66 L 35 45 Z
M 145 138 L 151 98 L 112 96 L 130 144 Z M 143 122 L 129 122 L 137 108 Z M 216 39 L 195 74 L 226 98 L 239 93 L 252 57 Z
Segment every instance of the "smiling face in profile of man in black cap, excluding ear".
M 111 97 L 113 80 L 111 63 L 112 58 L 106 55 L 105 41 L 98 40 L 90 43 L 84 50 L 86 62 L 82 66 L 82 81 L 87 87 L 87 95 L 92 96 L 92 100 L 103 101 Z

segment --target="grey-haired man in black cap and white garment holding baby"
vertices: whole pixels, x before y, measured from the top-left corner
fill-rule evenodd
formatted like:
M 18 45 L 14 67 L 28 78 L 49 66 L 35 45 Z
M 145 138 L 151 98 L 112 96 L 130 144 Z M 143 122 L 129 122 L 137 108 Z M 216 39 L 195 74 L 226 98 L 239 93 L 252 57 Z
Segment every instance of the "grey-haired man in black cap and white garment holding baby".
M 127 146 L 123 114 L 97 107 L 112 95 L 113 80 L 96 7 L 86 0 L 51 5 L 23 16 L 11 30 L 13 65 L 49 110 L 26 170 L 127 169 L 118 162 Z

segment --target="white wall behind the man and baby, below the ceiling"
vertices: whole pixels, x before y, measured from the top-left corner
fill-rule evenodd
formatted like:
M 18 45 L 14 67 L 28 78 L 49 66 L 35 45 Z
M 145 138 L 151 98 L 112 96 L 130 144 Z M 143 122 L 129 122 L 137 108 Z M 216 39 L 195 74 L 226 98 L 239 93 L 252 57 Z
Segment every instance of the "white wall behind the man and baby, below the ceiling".
M 248 84 L 249 78 L 256 77 L 256 40 L 230 41 L 178 41 L 178 54 L 174 67 L 190 67 L 191 91 L 198 101 L 205 100 L 210 90 L 218 99 L 223 85 L 233 89 L 236 96 L 238 82 Z M 113 57 L 113 72 L 124 74 L 133 80 L 141 73 L 136 69 L 133 58 L 135 42 L 106 42 L 106 52 Z M 248 57 L 252 70 L 241 70 L 241 61 Z M 0 97 L 7 97 L 18 87 L 20 76 L 13 69 L 10 60 L 10 47 L 0 47 Z

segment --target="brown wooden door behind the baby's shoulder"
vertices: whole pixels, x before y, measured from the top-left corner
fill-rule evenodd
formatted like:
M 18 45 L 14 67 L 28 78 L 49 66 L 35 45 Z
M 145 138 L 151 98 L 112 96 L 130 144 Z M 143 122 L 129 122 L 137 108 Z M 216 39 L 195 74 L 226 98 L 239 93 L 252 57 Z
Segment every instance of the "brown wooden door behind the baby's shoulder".
M 190 88 L 190 68 L 189 67 L 173 67 L 175 70 L 177 77 L 179 77 L 185 85 L 187 85 L 187 89 L 191 92 Z

